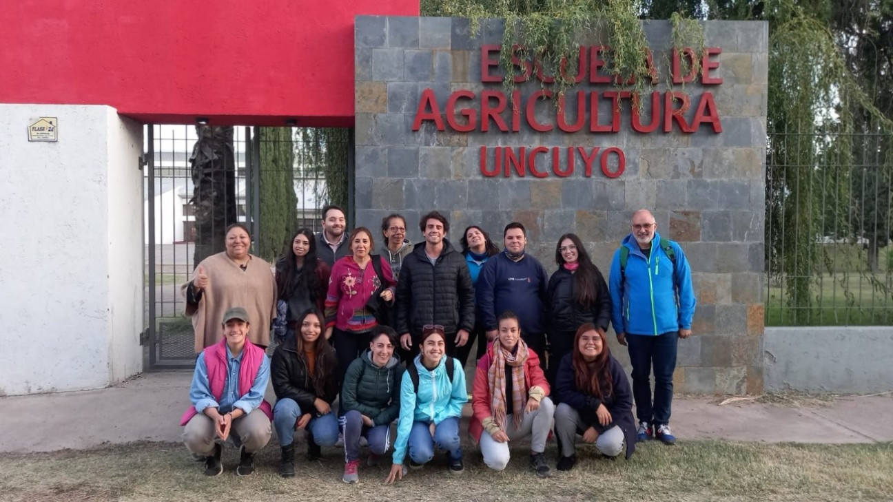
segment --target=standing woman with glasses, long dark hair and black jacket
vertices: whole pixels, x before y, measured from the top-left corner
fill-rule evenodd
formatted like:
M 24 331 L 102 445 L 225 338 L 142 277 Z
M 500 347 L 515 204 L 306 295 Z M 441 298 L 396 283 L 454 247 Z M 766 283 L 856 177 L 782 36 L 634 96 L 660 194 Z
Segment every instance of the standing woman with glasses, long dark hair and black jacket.
M 558 270 L 549 278 L 549 383 L 562 357 L 573 348 L 574 333 L 587 322 L 604 334 L 611 321 L 611 295 L 605 277 L 589 259 L 586 247 L 576 234 L 567 233 L 555 246 Z

